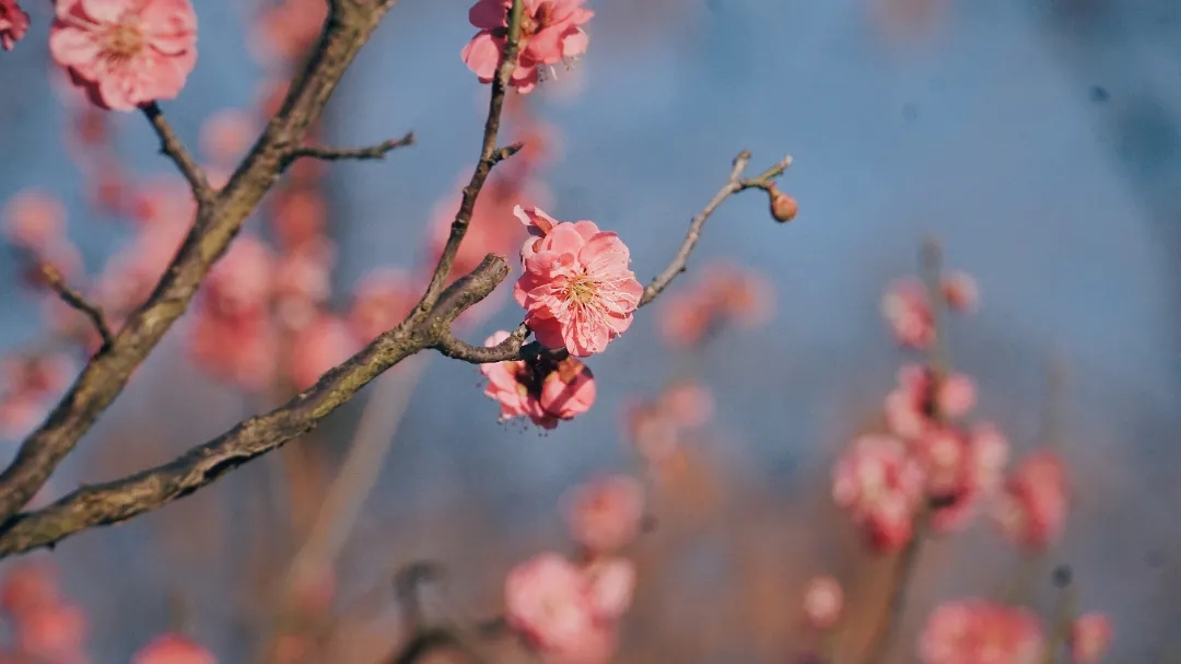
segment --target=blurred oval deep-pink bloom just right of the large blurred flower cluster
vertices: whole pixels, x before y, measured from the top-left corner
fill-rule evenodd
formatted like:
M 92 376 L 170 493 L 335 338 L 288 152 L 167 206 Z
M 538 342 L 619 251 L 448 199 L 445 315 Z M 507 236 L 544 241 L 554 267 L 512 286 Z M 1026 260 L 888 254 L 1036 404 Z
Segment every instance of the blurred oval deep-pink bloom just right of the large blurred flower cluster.
M 1036 552 L 1062 536 L 1069 504 L 1066 464 L 1046 449 L 1027 456 L 1013 470 L 993 515 L 1010 541 Z

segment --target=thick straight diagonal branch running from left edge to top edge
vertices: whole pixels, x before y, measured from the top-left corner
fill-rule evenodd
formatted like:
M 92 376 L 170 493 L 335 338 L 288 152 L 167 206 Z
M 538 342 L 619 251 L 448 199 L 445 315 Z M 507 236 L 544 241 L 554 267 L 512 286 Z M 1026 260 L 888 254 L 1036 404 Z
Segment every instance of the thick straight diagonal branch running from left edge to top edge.
M 198 206 L 193 228 L 155 291 L 124 324 L 105 353 L 93 357 L 45 423 L 21 444 L 0 474 L 0 521 L 17 513 L 94 421 L 115 401 L 164 333 L 188 308 L 202 280 L 257 208 L 280 172 L 283 156 L 300 145 L 319 117 L 345 69 L 352 63 L 391 4 L 338 2 L 320 43 L 287 98 L 226 187 Z M 146 109 L 154 126 L 167 126 L 158 110 Z M 164 137 L 171 136 L 165 132 Z M 180 152 L 177 152 L 180 154 Z M 175 158 L 175 157 L 174 157 Z M 188 160 L 182 158 L 182 170 Z M 200 181 L 197 181 L 200 188 Z

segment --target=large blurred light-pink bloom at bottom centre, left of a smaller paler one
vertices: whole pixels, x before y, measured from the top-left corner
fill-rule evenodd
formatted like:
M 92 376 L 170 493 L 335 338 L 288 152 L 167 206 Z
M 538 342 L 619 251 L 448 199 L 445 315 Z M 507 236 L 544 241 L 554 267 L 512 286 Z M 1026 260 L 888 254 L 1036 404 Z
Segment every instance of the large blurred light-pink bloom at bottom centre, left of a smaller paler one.
M 596 613 L 587 574 L 556 553 L 521 562 L 504 580 L 504 617 L 547 662 L 606 663 L 615 649 L 613 625 Z

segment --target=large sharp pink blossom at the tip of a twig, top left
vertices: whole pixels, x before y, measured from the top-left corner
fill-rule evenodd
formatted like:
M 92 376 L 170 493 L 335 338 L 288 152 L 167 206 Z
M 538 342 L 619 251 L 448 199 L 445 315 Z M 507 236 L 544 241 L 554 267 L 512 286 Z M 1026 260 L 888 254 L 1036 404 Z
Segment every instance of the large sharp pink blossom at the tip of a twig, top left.
M 197 63 L 189 0 L 58 0 L 50 52 L 104 109 L 172 99 Z

